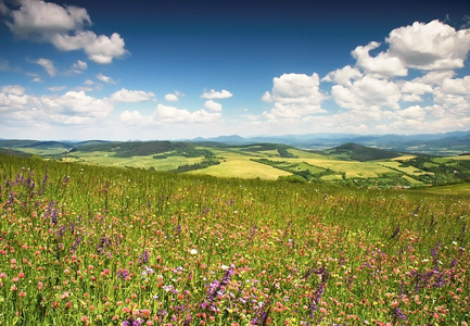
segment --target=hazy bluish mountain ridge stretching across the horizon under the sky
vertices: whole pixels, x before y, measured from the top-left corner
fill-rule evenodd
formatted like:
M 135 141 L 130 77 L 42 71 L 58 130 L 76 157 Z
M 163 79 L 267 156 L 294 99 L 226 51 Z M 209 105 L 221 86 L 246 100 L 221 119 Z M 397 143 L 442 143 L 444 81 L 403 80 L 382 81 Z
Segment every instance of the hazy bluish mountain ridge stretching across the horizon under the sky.
M 110 143 L 126 143 L 131 147 L 136 143 L 151 142 L 173 143 L 223 143 L 228 146 L 252 143 L 279 143 L 304 150 L 327 150 L 344 143 L 357 143 L 360 146 L 378 148 L 396 152 L 414 152 L 436 155 L 453 155 L 470 152 L 470 130 L 452 131 L 444 134 L 416 134 L 416 135 L 356 135 L 356 134 L 303 134 L 281 136 L 242 137 L 239 135 L 217 136 L 209 138 L 192 138 L 179 140 L 147 140 L 147 141 L 111 141 L 111 140 L 85 140 L 85 141 L 56 141 L 56 140 L 29 140 L 29 139 L 0 139 L 1 148 L 36 148 L 50 149 L 63 148 L 73 150 L 88 146 L 107 147 Z M 129 147 L 126 146 L 126 147 Z

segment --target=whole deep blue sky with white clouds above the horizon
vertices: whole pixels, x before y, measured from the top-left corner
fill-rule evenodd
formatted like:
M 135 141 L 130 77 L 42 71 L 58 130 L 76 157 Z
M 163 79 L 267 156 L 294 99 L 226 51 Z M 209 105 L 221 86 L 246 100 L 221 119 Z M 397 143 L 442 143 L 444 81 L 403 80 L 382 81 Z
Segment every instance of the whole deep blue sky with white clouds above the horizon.
M 469 51 L 468 0 L 0 0 L 0 138 L 470 130 Z

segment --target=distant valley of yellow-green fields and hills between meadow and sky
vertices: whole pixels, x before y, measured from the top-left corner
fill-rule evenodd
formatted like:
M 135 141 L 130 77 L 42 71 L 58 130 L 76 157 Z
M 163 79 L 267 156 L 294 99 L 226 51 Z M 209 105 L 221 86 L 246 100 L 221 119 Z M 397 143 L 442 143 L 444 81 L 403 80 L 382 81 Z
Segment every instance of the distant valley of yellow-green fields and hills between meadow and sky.
M 0 151 L 63 162 L 216 177 L 410 188 L 469 181 L 469 133 L 454 133 L 355 138 L 336 135 L 315 141 L 309 136 L 282 139 L 229 136 L 185 141 L 3 139 Z

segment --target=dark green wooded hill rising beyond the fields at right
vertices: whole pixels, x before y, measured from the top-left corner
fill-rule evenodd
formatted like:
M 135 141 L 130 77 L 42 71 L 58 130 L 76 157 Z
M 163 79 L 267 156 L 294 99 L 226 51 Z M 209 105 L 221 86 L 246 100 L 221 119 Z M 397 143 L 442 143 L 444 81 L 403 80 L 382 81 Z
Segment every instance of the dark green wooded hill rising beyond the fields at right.
M 382 150 L 378 148 L 370 148 L 354 142 L 347 142 L 342 146 L 335 147 L 326 151 L 329 155 L 334 155 L 341 160 L 353 160 L 359 162 L 395 159 L 402 153 Z

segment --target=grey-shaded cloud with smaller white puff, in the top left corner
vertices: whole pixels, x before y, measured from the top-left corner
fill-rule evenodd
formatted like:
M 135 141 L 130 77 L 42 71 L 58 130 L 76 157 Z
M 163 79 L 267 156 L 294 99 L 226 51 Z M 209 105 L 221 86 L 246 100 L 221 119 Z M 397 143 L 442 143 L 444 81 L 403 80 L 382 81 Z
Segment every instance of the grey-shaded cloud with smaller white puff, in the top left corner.
M 51 42 L 62 51 L 82 49 L 88 59 L 100 64 L 109 64 L 127 52 L 119 34 L 98 36 L 82 29 L 91 24 L 86 9 L 43 0 L 20 0 L 20 9 L 10 11 L 11 20 L 7 22 L 20 38 Z

